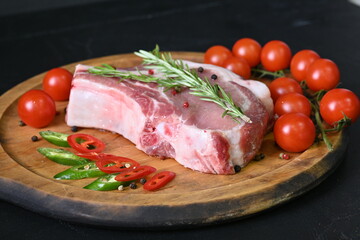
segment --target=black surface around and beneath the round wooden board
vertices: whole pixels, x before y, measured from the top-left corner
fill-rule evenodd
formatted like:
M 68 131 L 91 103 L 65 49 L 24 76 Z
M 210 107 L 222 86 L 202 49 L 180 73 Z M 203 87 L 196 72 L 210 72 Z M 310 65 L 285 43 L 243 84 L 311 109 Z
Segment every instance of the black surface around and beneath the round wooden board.
M 21 6 L 19 6 L 21 7 Z M 114 1 L 0 18 L 0 93 L 83 59 L 152 49 L 205 51 L 239 38 L 279 39 L 335 61 L 359 92 L 360 7 L 347 1 Z M 248 219 L 172 231 L 100 229 L 0 201 L 0 239 L 360 239 L 360 124 L 347 157 L 315 189 Z

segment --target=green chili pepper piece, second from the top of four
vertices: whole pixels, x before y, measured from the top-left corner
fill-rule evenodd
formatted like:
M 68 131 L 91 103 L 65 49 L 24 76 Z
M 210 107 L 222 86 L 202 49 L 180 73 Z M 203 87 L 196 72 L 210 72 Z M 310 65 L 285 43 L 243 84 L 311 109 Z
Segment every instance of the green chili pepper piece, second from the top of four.
M 76 156 L 72 152 L 56 148 L 38 148 L 37 151 L 48 159 L 67 166 L 77 166 L 89 162 L 88 159 Z

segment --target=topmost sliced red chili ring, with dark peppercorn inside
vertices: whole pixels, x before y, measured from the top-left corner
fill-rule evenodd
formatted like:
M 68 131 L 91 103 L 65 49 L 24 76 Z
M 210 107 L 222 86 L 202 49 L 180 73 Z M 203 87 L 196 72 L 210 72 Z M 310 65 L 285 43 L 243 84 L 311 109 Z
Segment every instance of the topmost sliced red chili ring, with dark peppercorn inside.
M 88 134 L 77 133 L 67 137 L 69 145 L 81 153 L 102 152 L 105 149 L 105 143 Z

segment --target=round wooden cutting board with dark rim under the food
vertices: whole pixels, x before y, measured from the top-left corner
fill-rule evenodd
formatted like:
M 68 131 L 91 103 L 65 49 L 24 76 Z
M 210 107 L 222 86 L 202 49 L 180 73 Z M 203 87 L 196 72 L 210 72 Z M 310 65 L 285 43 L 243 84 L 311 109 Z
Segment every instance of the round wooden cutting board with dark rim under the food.
M 202 53 L 174 52 L 174 58 L 201 62 Z M 121 54 L 82 61 L 82 64 L 112 64 L 131 67 L 140 63 L 133 54 Z M 71 72 L 77 63 L 64 66 Z M 67 102 L 57 102 L 55 121 L 45 129 L 18 126 L 17 99 L 24 92 L 41 88 L 44 73 L 24 81 L 0 98 L 0 198 L 40 214 L 67 221 L 107 227 L 181 227 L 212 224 L 243 218 L 285 203 L 318 185 L 341 162 L 347 137 L 343 132 L 330 136 L 335 150 L 323 143 L 290 160 L 268 134 L 260 152 L 240 173 L 230 176 L 195 172 L 173 159 L 160 160 L 139 151 L 122 136 L 95 129 L 81 129 L 103 140 L 106 152 L 129 157 L 160 170 L 176 172 L 176 178 L 157 192 L 142 187 L 124 191 L 98 192 L 83 189 L 94 179 L 55 180 L 67 166 L 56 164 L 36 148 L 54 147 L 45 140 L 32 142 L 41 130 L 71 134 L 64 121 Z

